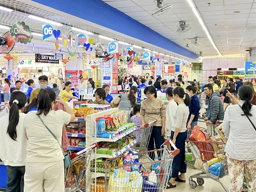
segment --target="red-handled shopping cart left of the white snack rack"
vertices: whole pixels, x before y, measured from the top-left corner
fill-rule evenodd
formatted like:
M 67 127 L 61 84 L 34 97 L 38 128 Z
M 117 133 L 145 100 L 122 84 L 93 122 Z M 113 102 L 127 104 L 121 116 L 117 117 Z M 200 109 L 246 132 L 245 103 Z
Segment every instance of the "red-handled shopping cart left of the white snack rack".
M 66 168 L 65 172 L 65 192 L 77 192 L 81 191 L 85 186 L 85 173 L 86 165 L 90 159 L 90 154 L 92 149 L 98 146 L 97 143 L 92 144 L 90 147 L 85 148 L 77 153 L 70 154 L 70 159 L 72 160 L 72 165 Z

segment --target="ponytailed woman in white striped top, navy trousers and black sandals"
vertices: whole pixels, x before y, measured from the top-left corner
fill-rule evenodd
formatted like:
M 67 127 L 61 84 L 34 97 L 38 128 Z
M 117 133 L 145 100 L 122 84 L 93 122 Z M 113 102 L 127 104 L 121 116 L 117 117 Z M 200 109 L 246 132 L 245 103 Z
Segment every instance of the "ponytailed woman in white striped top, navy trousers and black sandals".
M 189 95 L 184 92 L 181 87 L 175 88 L 172 92 L 174 101 L 178 107 L 174 113 L 174 121 L 172 123 L 171 139 L 180 153 L 176 155 L 172 161 L 172 178 L 169 180 L 166 189 L 175 188 L 177 182 L 186 182 L 185 173 L 187 165 L 185 163 L 185 140 L 188 133 L 186 123 L 189 115 L 190 99 Z M 184 98 L 185 95 L 185 99 Z M 180 175 L 179 175 L 180 172 Z

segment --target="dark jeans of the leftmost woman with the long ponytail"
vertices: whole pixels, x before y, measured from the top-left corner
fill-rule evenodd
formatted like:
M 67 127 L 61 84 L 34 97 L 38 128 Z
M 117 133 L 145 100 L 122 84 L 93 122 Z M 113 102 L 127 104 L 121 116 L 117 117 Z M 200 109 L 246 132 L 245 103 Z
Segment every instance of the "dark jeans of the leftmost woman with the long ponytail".
M 23 192 L 25 166 L 7 166 L 6 192 Z

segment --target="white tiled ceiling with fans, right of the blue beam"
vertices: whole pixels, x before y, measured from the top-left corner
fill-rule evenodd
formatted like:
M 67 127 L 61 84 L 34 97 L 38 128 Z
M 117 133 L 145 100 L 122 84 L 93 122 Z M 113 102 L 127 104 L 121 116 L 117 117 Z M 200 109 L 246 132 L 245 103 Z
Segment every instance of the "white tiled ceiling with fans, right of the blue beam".
M 161 16 L 152 16 L 152 10 L 156 8 L 154 0 L 102 1 L 196 54 L 218 54 L 187 0 L 164 0 L 165 4 L 173 6 Z M 256 47 L 256 0 L 194 0 L 194 4 L 221 54 L 246 53 L 246 49 Z M 178 35 L 176 30 L 180 20 L 185 20 L 191 29 Z M 191 43 L 191 38 L 196 36 L 200 37 L 201 46 Z

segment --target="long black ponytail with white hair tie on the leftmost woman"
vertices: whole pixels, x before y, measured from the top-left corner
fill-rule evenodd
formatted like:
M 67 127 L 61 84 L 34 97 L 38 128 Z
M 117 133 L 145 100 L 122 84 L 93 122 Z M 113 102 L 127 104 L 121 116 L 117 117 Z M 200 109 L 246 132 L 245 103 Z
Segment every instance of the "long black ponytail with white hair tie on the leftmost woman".
M 10 112 L 9 112 L 9 124 L 7 127 L 7 134 L 16 141 L 17 130 L 16 127 L 19 123 L 20 115 L 19 110 L 24 108 L 27 103 L 27 96 L 20 91 L 13 92 L 10 98 Z

